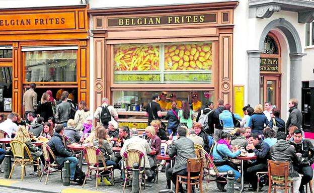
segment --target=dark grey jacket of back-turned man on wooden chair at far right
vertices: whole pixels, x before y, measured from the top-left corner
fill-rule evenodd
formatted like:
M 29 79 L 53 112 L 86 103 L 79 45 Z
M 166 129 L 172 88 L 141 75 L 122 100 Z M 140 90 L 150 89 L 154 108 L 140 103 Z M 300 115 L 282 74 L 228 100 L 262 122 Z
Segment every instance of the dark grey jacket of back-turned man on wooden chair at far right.
M 299 176 L 297 171 L 294 170 L 292 165 L 298 165 L 300 158 L 296 156 L 295 148 L 289 142 L 280 139 L 270 148 L 270 156 L 273 161 L 288 161 L 289 175 L 292 177 Z

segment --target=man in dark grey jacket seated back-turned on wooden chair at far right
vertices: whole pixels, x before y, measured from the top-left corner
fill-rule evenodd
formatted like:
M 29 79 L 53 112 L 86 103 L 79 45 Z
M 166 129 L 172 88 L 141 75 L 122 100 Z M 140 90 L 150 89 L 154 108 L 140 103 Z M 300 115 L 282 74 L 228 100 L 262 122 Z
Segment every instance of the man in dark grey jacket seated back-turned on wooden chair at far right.
M 299 186 L 301 183 L 301 175 L 294 170 L 293 165 L 300 163 L 300 158 L 295 153 L 295 148 L 291 146 L 285 139 L 286 134 L 279 131 L 276 135 L 277 142 L 270 147 L 270 156 L 273 161 L 288 161 L 289 176 L 293 177 L 293 193 L 299 192 Z M 293 164 L 293 165 L 292 165 Z M 304 189 L 303 189 L 304 191 Z M 301 192 L 301 191 L 300 191 Z

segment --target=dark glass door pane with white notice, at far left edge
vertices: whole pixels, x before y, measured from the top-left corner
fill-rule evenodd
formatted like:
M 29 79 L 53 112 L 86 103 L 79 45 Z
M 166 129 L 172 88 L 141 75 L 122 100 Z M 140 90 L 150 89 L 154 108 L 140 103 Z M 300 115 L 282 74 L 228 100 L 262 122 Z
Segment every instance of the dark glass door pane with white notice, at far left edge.
M 12 67 L 0 67 L 0 113 L 12 112 Z

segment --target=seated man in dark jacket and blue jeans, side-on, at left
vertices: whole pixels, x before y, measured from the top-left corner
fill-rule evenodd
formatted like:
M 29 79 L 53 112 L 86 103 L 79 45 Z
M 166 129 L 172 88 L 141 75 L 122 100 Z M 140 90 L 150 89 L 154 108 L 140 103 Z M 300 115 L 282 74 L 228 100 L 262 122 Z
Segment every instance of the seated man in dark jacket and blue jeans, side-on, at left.
M 63 163 L 68 160 L 70 162 L 70 180 L 74 180 L 75 168 L 77 165 L 77 158 L 75 154 L 67 151 L 62 142 L 62 135 L 64 133 L 63 125 L 56 125 L 55 132 L 52 138 L 49 140 L 48 145 L 52 152 L 56 156 L 56 162 L 58 165 L 63 165 Z M 71 182 L 71 184 L 77 184 Z

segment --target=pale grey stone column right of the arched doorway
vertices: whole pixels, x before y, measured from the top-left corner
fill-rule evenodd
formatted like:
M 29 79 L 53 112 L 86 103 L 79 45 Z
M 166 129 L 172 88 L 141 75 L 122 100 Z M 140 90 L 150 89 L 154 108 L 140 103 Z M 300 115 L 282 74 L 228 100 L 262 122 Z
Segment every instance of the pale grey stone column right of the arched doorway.
M 290 98 L 299 101 L 298 109 L 301 110 L 302 101 L 302 57 L 304 53 L 290 53 Z M 289 100 L 288 99 L 288 100 Z

